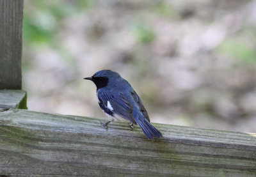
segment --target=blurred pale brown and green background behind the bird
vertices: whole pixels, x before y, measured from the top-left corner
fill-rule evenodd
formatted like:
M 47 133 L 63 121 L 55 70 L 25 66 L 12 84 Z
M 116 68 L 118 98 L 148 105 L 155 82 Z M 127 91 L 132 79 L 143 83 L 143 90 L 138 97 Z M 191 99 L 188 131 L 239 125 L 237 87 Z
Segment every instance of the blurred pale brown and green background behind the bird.
M 256 132 L 256 1 L 24 1 L 35 111 L 106 117 L 84 77 L 120 73 L 152 122 Z

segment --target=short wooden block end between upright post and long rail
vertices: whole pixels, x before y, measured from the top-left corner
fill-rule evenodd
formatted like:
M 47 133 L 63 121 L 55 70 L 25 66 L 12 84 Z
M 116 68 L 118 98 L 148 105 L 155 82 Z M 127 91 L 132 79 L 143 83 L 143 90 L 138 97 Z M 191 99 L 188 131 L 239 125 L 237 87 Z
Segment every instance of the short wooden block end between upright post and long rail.
M 10 108 L 28 109 L 26 91 L 0 89 L 0 112 Z

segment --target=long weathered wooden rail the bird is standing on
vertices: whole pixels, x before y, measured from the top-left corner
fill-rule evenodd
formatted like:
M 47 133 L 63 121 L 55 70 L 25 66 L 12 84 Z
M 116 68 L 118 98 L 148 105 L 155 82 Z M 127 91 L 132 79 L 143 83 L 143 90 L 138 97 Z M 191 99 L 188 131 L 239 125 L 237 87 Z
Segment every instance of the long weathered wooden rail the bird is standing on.
M 10 109 L 0 113 L 0 174 L 10 176 L 256 176 L 256 134 Z

